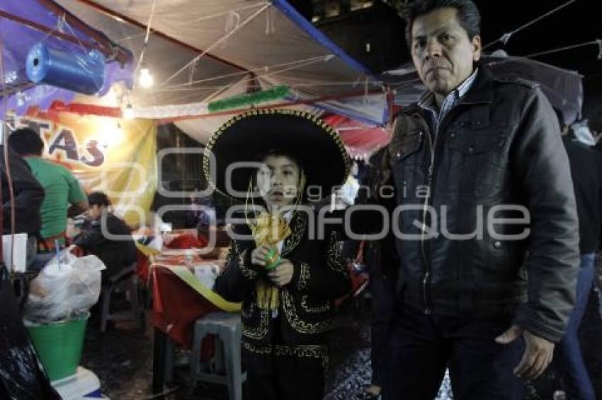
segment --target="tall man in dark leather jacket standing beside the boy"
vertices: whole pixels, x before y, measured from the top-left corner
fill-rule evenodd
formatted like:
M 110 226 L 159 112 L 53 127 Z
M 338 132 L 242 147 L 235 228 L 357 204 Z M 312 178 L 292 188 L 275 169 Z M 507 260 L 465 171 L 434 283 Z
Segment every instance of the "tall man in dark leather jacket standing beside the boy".
M 409 5 L 407 40 L 428 91 L 400 112 L 375 198 L 394 190 L 399 306 L 385 399 L 521 399 L 574 304 L 577 212 L 550 103 L 479 66 L 470 0 Z M 388 188 L 388 189 L 387 189 Z

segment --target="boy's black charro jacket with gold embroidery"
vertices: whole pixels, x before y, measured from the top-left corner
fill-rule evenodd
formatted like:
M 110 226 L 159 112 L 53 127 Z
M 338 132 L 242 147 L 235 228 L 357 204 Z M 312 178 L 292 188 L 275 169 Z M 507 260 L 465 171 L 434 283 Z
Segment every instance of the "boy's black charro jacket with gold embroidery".
M 284 240 L 281 257 L 294 265 L 293 279 L 279 290 L 278 316 L 256 304 L 256 280 L 266 277 L 262 266 L 251 264 L 253 240 L 233 240 L 225 269 L 214 290 L 226 300 L 242 302 L 242 347 L 253 353 L 285 351 L 288 355 L 325 357 L 324 333 L 329 330 L 334 300 L 351 290 L 341 252 L 341 238 L 334 230 L 324 240 L 310 240 L 312 212 L 295 212 L 292 233 Z M 246 225 L 238 235 L 251 239 Z M 267 279 L 267 278 L 266 278 Z M 312 353 L 311 355 L 309 353 Z

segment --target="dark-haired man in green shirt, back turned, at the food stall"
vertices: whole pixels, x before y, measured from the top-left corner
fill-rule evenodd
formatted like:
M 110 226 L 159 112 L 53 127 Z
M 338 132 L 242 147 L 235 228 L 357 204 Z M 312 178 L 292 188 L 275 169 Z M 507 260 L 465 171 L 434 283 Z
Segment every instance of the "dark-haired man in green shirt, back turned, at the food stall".
M 44 142 L 33 129 L 22 128 L 13 131 L 8 136 L 8 146 L 25 159 L 33 176 L 44 187 L 46 196 L 40 209 L 40 236 L 45 242 L 45 247 L 52 249 L 55 240 L 63 240 L 67 217 L 76 216 L 89 208 L 86 194 L 67 168 L 42 158 Z

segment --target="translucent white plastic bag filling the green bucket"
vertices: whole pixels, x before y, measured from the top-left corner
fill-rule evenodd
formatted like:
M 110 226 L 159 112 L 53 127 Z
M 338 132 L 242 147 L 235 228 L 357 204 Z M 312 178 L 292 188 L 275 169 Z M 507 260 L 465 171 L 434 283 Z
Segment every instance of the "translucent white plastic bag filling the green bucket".
M 45 324 L 80 317 L 98 302 L 103 261 L 75 257 L 64 249 L 31 282 L 23 312 L 28 321 Z

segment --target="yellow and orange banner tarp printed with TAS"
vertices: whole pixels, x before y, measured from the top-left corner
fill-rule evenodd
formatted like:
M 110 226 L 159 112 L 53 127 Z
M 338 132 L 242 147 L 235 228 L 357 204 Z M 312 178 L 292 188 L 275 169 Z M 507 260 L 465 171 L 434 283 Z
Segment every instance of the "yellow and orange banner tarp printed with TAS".
M 128 224 L 147 217 L 157 181 L 154 122 L 30 110 L 11 124 L 38 131 L 44 157 L 71 170 L 86 192 L 106 192 Z

